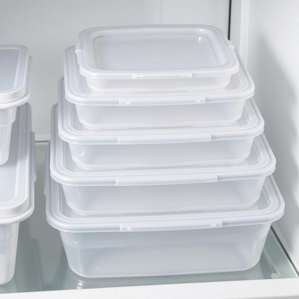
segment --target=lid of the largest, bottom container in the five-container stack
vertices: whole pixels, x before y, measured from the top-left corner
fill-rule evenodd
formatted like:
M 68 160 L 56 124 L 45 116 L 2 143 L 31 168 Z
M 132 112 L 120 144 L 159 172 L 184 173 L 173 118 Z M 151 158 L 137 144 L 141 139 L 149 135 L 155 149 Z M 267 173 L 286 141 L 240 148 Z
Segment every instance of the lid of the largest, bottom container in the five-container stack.
M 168 231 L 270 223 L 284 213 L 284 202 L 272 176 L 266 178 L 260 199 L 250 208 L 199 210 L 193 213 L 80 215 L 65 202 L 60 184 L 49 178 L 45 188 L 46 216 L 51 226 L 68 232 Z

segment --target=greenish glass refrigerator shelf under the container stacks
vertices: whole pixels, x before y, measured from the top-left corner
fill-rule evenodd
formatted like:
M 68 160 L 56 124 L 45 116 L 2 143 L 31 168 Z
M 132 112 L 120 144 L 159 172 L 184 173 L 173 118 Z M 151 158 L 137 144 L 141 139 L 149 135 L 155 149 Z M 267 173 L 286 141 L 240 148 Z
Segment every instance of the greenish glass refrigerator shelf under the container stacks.
M 38 177 L 35 184 L 35 210 L 20 225 L 15 275 L 9 283 L 0 286 L 0 293 L 298 277 L 272 231 L 260 262 L 247 271 L 99 279 L 87 279 L 74 274 L 68 267 L 59 231 L 48 225 L 45 219 L 45 147 L 46 143 L 36 144 Z

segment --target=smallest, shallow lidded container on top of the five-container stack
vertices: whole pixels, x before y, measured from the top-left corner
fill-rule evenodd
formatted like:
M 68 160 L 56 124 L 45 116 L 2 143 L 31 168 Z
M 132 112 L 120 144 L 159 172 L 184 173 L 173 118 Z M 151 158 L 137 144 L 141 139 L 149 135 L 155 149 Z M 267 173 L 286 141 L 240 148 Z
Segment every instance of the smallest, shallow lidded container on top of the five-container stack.
M 239 70 L 222 30 L 203 25 L 90 28 L 79 34 L 76 54 L 94 91 L 217 89 Z

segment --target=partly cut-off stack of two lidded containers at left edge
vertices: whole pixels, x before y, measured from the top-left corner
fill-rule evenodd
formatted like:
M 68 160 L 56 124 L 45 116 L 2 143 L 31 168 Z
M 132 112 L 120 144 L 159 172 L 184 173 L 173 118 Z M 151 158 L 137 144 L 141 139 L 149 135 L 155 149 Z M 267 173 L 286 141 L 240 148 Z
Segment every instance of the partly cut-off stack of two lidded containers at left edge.
M 28 49 L 0 46 L 0 284 L 13 277 L 19 223 L 34 208 L 35 145 L 31 132 Z

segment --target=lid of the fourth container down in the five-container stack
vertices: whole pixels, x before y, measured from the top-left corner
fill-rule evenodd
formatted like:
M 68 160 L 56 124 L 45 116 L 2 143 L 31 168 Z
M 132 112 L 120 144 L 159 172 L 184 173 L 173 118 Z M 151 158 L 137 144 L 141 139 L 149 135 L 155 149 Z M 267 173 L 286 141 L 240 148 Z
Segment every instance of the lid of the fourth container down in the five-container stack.
M 51 114 L 50 169 L 51 176 L 62 184 L 125 186 L 212 182 L 264 177 L 273 173 L 275 169 L 275 157 L 263 134 L 254 139 L 248 158 L 236 164 L 148 167 L 142 168 L 142 170 L 80 168 L 71 158 L 68 143 L 58 136 L 57 110 L 57 104 L 55 104 Z

